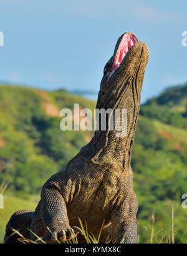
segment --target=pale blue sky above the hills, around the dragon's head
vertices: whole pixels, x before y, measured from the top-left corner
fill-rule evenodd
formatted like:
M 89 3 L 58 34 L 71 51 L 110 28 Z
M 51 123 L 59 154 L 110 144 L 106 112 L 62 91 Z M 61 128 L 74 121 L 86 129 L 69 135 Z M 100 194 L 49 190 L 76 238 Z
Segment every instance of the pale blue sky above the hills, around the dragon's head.
M 0 80 L 98 91 L 118 37 L 132 31 L 150 48 L 145 101 L 187 81 L 186 10 L 186 0 L 1 0 Z

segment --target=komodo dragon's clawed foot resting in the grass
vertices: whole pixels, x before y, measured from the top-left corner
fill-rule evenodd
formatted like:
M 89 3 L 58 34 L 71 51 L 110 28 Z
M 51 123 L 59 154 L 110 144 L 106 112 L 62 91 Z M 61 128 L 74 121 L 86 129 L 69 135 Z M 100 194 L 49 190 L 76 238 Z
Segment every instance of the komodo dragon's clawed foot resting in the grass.
M 69 227 L 69 229 L 66 230 L 62 229 L 59 232 L 50 232 L 50 230 L 48 230 L 42 240 L 44 240 L 44 242 L 65 242 L 74 239 L 79 233 L 83 235 L 82 230 L 76 226 Z

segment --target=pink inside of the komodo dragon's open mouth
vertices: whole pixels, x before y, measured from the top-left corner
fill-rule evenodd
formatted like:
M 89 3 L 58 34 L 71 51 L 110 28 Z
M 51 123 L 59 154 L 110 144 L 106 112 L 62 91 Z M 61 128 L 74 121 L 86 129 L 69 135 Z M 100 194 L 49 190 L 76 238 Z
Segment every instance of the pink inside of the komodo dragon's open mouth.
M 130 48 L 133 46 L 133 44 L 135 44 L 136 42 L 138 42 L 138 39 L 132 34 L 125 34 L 123 36 L 122 41 L 118 46 L 117 53 L 115 54 L 115 59 L 113 61 L 113 65 L 111 69 L 112 73 L 118 69 L 118 67 L 123 61 L 123 58 L 125 57 L 127 52 L 130 50 Z

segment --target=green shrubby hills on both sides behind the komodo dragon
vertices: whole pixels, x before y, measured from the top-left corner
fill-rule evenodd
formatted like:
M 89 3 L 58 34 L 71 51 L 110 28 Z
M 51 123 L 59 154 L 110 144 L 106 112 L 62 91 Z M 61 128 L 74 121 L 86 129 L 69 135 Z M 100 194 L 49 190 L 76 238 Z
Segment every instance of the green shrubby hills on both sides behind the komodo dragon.
M 74 103 L 95 107 L 64 90 L 0 86 L 0 183 L 11 180 L 9 206 L 0 210 L 1 233 L 14 210 L 34 208 L 42 184 L 92 137 L 89 131 L 60 130 L 60 109 L 73 109 Z M 171 242 L 172 205 L 175 242 L 187 241 L 187 210 L 181 207 L 187 192 L 186 106 L 187 85 L 167 89 L 141 106 L 132 159 L 140 242 L 150 242 L 151 234 L 153 242 Z

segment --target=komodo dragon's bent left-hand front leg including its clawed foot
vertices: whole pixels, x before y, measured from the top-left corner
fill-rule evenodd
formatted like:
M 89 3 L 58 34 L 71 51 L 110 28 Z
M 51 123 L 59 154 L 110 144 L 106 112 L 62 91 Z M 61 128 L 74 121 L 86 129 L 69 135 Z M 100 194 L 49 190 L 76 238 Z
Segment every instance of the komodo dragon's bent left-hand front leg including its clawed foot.
M 62 176 L 62 173 L 52 176 L 41 193 L 41 218 L 46 226 L 43 239 L 49 242 L 65 242 L 81 232 L 78 227 L 70 227 L 66 204 L 72 197 L 70 193 L 74 191 L 74 185 L 68 180 L 65 182 Z

